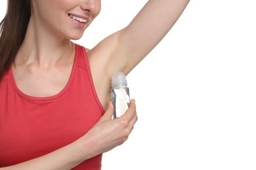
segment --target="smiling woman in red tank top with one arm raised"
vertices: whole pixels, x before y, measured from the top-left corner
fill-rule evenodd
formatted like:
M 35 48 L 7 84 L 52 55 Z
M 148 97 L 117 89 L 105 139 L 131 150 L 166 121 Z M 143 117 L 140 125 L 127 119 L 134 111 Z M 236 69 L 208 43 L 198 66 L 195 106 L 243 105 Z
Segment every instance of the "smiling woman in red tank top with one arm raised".
M 100 0 L 9 0 L 0 39 L 0 169 L 100 169 L 102 153 L 124 143 L 137 122 L 134 100 L 112 120 L 113 73 L 127 75 L 188 1 L 150 0 L 89 50 L 70 40 L 98 16 Z

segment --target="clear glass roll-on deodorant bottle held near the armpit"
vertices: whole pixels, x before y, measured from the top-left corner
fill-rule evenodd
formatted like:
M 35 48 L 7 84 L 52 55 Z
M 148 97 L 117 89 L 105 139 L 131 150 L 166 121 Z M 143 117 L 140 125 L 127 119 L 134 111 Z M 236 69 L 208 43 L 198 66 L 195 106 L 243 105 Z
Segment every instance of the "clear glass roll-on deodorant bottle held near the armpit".
M 112 76 L 111 97 L 114 106 L 113 118 L 118 118 L 125 113 L 130 104 L 127 80 L 125 75 L 121 72 L 116 72 Z

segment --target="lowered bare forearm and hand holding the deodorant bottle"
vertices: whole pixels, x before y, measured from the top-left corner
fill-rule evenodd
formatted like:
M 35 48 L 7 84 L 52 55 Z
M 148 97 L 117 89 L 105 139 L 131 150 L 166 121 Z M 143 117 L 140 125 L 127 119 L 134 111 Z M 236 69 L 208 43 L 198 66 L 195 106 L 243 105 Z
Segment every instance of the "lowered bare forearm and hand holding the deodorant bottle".
M 135 101 L 131 100 L 127 112 L 114 120 L 113 112 L 114 108 L 111 102 L 108 102 L 108 108 L 102 118 L 74 143 L 45 156 L 0 169 L 72 169 L 89 158 L 112 150 L 127 140 L 137 122 Z

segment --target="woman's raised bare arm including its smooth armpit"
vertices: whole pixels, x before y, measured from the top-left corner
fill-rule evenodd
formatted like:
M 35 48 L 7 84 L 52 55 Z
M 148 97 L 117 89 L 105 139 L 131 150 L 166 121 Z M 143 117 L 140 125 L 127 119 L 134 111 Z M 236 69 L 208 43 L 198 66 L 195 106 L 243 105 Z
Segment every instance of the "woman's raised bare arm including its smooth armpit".
M 181 16 L 189 0 L 149 0 L 127 27 L 100 42 L 98 62 L 106 61 L 109 75 L 129 73 L 160 41 Z M 104 49 L 104 50 L 102 50 Z M 100 52 L 103 51 L 103 52 Z

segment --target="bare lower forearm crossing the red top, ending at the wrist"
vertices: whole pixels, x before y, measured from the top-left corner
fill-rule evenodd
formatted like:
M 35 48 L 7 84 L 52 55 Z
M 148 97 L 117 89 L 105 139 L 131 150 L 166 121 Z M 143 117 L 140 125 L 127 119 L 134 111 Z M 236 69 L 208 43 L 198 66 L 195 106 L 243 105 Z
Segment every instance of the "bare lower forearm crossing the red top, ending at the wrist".
M 89 147 L 86 146 L 86 141 L 78 139 L 74 143 L 68 144 L 45 156 L 0 169 L 72 169 L 93 156 Z

